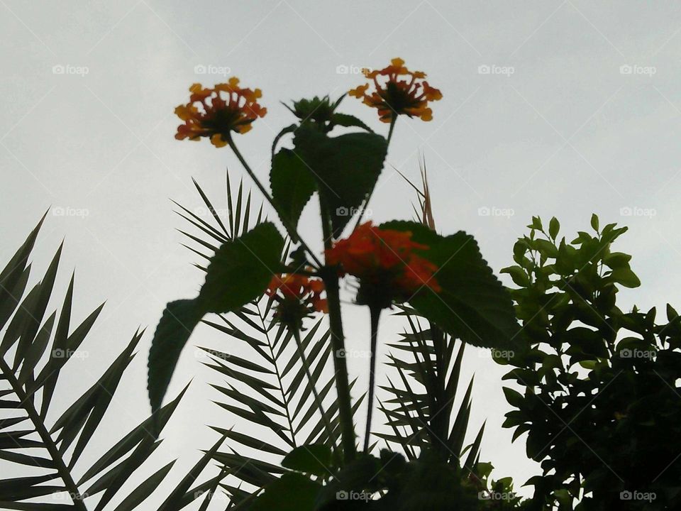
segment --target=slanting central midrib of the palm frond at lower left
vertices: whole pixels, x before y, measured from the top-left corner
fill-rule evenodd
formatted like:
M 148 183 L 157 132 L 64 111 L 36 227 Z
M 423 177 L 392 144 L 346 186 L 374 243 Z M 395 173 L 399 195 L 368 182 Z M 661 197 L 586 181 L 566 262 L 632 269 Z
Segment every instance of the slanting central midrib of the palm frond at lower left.
M 52 440 L 52 436 L 50 436 L 48 429 L 45 428 L 43 419 L 40 418 L 38 410 L 35 410 L 32 397 L 28 396 L 26 392 L 24 392 L 23 388 L 21 388 L 21 385 L 18 383 L 18 380 L 14 377 L 11 369 L 2 358 L 0 358 L 0 370 L 6 376 L 13 392 L 16 394 L 17 399 L 21 403 L 21 407 L 26 410 L 28 418 L 31 419 L 33 427 L 35 427 L 35 432 L 40 435 L 40 439 L 43 441 L 43 444 L 45 444 L 45 449 L 48 450 L 50 458 L 52 458 L 52 462 L 55 463 L 57 473 L 64 482 L 64 490 L 70 494 L 74 509 L 79 511 L 87 511 L 87 507 L 85 507 L 85 503 L 83 502 L 84 496 L 81 495 L 80 491 L 78 490 L 78 486 L 73 480 L 71 472 L 62 458 L 62 455 L 57 448 L 57 444 L 55 444 L 55 441 Z

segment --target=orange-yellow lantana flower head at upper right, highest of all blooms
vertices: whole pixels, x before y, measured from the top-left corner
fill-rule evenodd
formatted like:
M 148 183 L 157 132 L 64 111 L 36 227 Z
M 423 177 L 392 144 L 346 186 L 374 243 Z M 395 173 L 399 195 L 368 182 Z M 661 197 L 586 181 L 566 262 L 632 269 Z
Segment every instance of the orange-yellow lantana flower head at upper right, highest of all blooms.
M 365 76 L 373 79 L 376 90 L 367 94 L 370 84 L 363 84 L 350 90 L 348 94 L 363 99 L 364 104 L 378 109 L 381 121 L 392 122 L 394 116 L 400 114 L 420 117 L 422 121 L 433 119 L 433 111 L 428 108 L 428 101 L 442 99 L 442 93 L 423 79 L 426 77 L 423 71 L 409 71 L 404 67 L 404 60 L 394 58 L 388 67 L 365 72 Z

